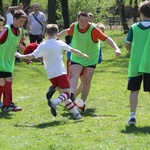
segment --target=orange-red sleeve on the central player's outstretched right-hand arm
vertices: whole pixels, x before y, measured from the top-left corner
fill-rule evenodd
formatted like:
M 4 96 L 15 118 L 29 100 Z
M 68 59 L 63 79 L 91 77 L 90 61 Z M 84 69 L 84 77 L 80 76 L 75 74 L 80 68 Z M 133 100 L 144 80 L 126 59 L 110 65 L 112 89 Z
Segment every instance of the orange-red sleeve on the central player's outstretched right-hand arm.
M 107 39 L 107 35 L 104 34 L 101 30 L 98 28 L 94 28 L 92 30 L 92 39 L 94 42 L 98 42 L 98 40 L 105 41 Z

